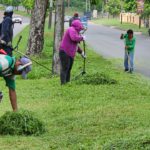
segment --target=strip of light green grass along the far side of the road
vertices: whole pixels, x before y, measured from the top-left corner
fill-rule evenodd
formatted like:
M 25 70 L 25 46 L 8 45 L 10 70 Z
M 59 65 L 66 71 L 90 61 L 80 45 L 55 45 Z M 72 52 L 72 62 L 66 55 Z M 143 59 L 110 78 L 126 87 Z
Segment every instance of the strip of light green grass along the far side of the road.
M 148 29 L 147 28 L 141 27 L 139 29 L 138 25 L 131 24 L 131 23 L 121 24 L 119 19 L 117 19 L 117 18 L 114 18 L 114 19 L 112 19 L 112 18 L 110 18 L 110 19 L 101 18 L 99 20 L 94 20 L 93 22 L 96 24 L 101 24 L 101 25 L 106 25 L 106 26 L 114 26 L 118 29 L 125 30 L 125 31 L 128 29 L 133 29 L 135 32 L 142 32 L 143 34 L 148 35 Z

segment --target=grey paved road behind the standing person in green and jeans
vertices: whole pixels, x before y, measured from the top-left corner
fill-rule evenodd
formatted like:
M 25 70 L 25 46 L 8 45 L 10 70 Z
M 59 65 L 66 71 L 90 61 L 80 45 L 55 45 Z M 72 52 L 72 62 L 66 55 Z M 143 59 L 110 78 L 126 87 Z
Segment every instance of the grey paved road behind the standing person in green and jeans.
M 124 57 L 124 42 L 119 39 L 122 31 L 90 23 L 87 42 L 93 49 L 106 58 Z M 135 34 L 135 71 L 150 77 L 150 38 Z

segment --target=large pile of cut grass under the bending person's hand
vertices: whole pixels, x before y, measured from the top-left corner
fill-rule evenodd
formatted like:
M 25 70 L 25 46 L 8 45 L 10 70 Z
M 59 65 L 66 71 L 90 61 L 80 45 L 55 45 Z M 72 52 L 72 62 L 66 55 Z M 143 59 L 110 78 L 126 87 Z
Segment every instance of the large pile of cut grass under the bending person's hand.
M 40 135 L 45 126 L 30 111 L 6 112 L 0 118 L 1 135 Z

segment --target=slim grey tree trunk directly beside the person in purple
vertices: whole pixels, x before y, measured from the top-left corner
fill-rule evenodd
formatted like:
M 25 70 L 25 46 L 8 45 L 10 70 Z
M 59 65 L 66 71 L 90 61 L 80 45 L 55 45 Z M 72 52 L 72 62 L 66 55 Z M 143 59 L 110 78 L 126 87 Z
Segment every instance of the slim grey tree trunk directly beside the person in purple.
M 59 46 L 64 31 L 64 0 L 56 1 L 52 73 L 60 73 Z

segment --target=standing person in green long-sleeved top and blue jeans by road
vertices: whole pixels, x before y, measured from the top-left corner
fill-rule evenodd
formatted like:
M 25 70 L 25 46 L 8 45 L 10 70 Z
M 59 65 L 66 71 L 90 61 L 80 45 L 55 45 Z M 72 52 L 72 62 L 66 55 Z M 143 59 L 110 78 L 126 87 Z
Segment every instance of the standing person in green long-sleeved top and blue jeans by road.
M 125 41 L 125 57 L 124 57 L 124 67 L 125 71 L 130 73 L 134 70 L 134 50 L 136 38 L 134 36 L 133 30 L 129 29 L 127 34 L 121 34 L 120 39 Z

